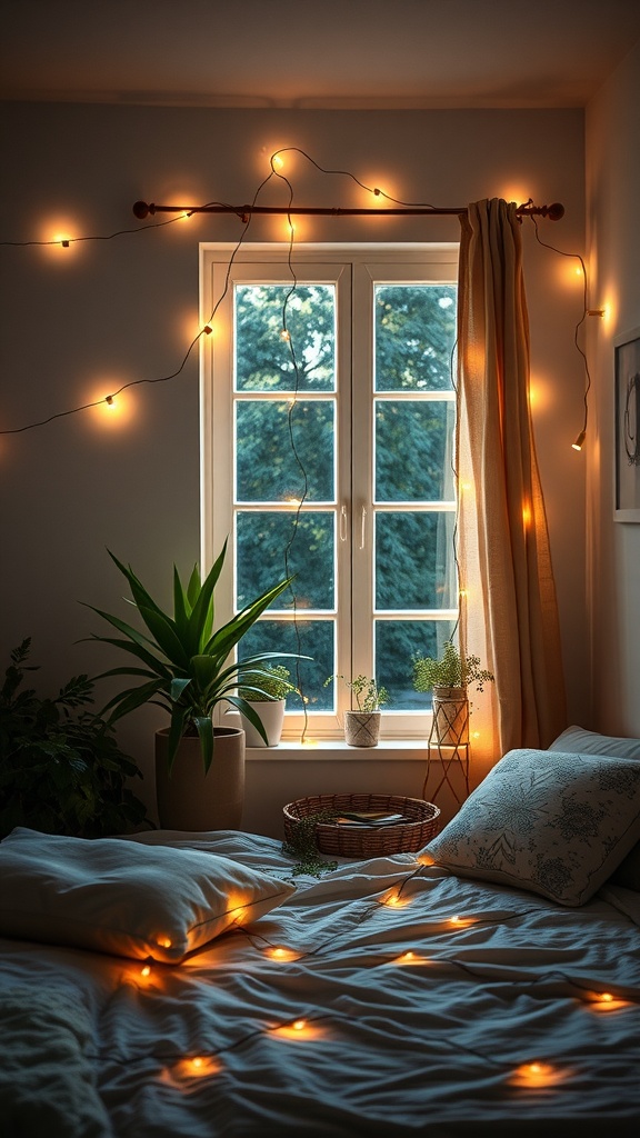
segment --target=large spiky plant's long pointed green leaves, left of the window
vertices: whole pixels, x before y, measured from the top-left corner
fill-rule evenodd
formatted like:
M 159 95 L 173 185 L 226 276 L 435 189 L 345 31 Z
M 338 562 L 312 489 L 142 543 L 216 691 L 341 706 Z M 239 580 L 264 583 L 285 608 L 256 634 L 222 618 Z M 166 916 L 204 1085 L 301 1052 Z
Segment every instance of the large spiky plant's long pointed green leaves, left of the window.
M 107 551 L 109 552 L 109 551 Z M 113 553 L 109 556 L 126 578 L 131 589 L 132 604 L 145 627 L 140 632 L 120 617 L 88 605 L 99 617 L 108 621 L 125 640 L 93 634 L 90 640 L 112 644 L 134 658 L 133 665 L 112 668 L 97 678 L 106 676 L 136 676 L 145 682 L 128 687 L 102 709 L 109 711 L 114 723 L 143 703 L 155 703 L 171 716 L 169 731 L 169 768 L 173 766 L 180 740 L 183 735 L 198 734 L 202 744 L 205 772 L 213 760 L 214 728 L 212 712 L 216 704 L 225 700 L 243 712 L 260 732 L 266 736 L 259 716 L 238 694 L 240 670 L 261 668 L 266 660 L 290 655 L 286 652 L 261 652 L 246 657 L 241 662 L 229 663 L 229 657 L 245 633 L 264 610 L 288 588 L 292 577 L 285 578 L 262 593 L 214 630 L 214 593 L 220 578 L 227 542 L 213 568 L 203 582 L 198 566 L 194 567 L 187 585 L 173 567 L 173 615 L 164 612 L 138 579 L 131 566 L 124 566 Z M 140 667 L 141 665 L 141 667 Z M 260 690 L 261 685 L 256 687 Z M 235 694 L 236 693 L 236 694 Z

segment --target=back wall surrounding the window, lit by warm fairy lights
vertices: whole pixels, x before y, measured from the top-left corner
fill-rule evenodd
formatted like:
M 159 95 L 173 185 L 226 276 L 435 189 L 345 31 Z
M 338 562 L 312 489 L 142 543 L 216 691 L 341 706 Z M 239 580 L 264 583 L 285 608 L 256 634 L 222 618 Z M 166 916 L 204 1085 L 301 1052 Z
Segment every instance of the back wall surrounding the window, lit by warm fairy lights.
M 559 199 L 566 217 L 556 225 L 541 222 L 541 237 L 565 250 L 583 250 L 580 110 L 346 113 L 6 104 L 1 131 L 11 171 L 2 182 L 6 241 L 47 238 L 64 222 L 75 236 L 136 229 L 131 206 L 138 198 L 248 201 L 269 171 L 269 155 L 298 146 L 320 164 L 353 171 L 410 201 L 458 206 L 492 196 Z M 362 204 L 361 191 L 348 180 L 322 175 L 302 158 L 287 172 L 298 203 Z M 261 200 L 286 204 L 286 189 L 270 187 Z M 233 240 L 240 233 L 235 217 L 192 218 L 55 253 L 6 245 L 0 258 L 0 426 L 19 428 L 129 380 L 174 371 L 197 328 L 198 241 Z M 256 221 L 249 233 L 254 240 L 282 237 L 282 222 Z M 454 240 L 458 222 L 323 218 L 301 223 L 298 233 L 306 240 Z M 531 223 L 524 239 L 536 439 L 569 718 L 588 723 L 584 462 L 571 448 L 582 420 L 583 371 L 573 345 L 581 283 L 571 259 L 536 244 Z M 623 256 L 622 237 L 620 245 Z M 130 561 L 165 599 L 172 562 L 186 569 L 198 556 L 196 356 L 178 379 L 136 387 L 128 402 L 130 418 L 114 417 L 108 427 L 104 417 L 85 411 L 0 438 L 1 659 L 24 636 L 33 636 L 33 659 L 42 665 L 39 682 L 46 690 L 71 674 L 96 674 L 114 663 L 104 648 L 77 643 L 99 630 L 98 619 L 80 602 L 122 611 L 121 579 L 105 547 Z M 640 529 L 629 535 L 618 528 L 614 536 L 620 559 L 629 558 L 624 543 L 640 537 Z M 102 691 L 104 685 L 100 695 Z M 150 728 L 162 723 L 159 715 L 145 709 L 122 727 L 123 744 L 149 776 Z M 415 782 L 417 773 L 404 792 L 416 793 Z M 282 801 L 289 791 L 290 785 L 282 790 Z M 150 781 L 146 793 L 153 800 Z M 260 794 L 251 777 L 248 794 L 249 800 Z

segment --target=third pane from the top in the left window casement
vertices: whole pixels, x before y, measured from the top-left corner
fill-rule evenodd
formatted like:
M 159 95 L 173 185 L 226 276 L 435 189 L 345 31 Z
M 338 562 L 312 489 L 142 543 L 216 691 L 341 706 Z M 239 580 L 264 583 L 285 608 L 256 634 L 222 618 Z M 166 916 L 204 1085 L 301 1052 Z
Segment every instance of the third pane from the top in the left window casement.
M 286 576 L 285 550 L 288 550 L 289 574 L 297 574 L 296 608 L 335 609 L 333 513 L 241 511 L 236 525 L 239 608 Z M 288 589 L 276 602 L 280 609 L 290 609 L 293 603 Z

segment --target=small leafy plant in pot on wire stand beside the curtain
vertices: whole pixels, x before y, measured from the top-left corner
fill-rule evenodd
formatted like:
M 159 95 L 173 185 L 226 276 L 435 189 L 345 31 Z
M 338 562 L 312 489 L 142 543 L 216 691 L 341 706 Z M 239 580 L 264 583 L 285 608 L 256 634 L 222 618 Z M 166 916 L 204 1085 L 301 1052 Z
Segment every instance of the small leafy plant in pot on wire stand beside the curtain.
M 443 747 L 469 742 L 468 687 L 475 684 L 482 692 L 493 675 L 481 668 L 479 657 L 460 654 L 452 640 L 444 642 L 442 655 L 413 657 L 413 687 L 433 692 L 433 731 Z

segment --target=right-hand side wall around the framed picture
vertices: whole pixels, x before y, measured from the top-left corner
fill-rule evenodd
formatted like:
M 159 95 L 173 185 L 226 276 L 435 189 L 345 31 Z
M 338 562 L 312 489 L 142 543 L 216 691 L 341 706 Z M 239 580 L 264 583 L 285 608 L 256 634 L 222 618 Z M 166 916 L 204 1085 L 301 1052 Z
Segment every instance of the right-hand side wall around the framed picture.
M 613 520 L 613 340 L 640 325 L 640 42 L 589 105 L 586 131 L 592 306 L 607 306 L 591 328 L 592 718 L 604 732 L 640 735 L 640 525 Z

